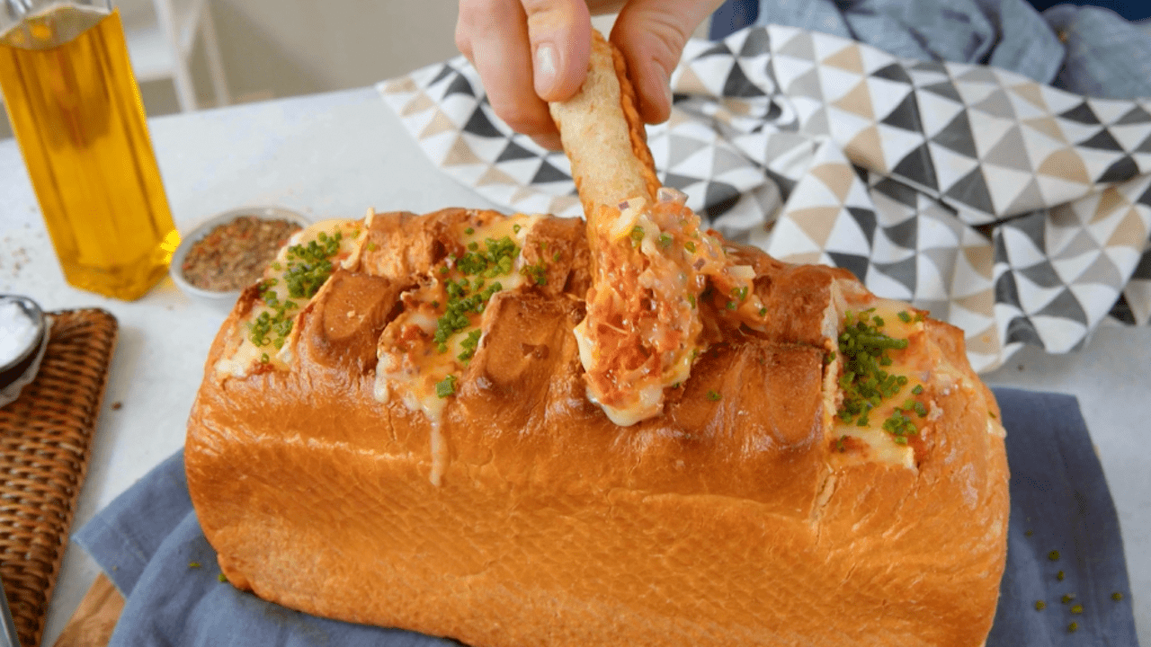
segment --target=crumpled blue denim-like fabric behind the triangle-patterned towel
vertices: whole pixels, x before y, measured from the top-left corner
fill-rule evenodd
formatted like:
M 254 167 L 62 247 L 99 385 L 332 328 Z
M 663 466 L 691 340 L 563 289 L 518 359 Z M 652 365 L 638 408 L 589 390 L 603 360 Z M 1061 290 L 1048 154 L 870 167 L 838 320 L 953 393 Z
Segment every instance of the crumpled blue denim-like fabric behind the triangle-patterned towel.
M 750 13 L 727 8 L 711 37 Z M 994 66 L 1078 94 L 1151 97 L 1151 33 L 1110 9 L 1024 0 L 760 0 L 755 23 L 853 38 L 897 56 Z

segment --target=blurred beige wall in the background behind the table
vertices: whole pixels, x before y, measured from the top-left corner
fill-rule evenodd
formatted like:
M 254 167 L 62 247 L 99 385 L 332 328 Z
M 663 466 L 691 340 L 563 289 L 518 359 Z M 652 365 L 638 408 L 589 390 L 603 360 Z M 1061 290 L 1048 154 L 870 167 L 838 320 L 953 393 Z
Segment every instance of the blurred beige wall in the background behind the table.
M 180 2 L 181 0 L 173 0 Z M 151 0 L 114 0 L 124 22 Z M 456 56 L 456 0 L 208 0 L 233 102 L 360 87 Z M 599 16 L 607 33 L 615 16 Z M 701 28 L 700 33 L 706 33 Z M 203 44 L 192 54 L 199 107 L 215 106 Z M 170 82 L 140 84 L 151 116 L 180 112 Z M 0 114 L 0 138 L 10 137 Z

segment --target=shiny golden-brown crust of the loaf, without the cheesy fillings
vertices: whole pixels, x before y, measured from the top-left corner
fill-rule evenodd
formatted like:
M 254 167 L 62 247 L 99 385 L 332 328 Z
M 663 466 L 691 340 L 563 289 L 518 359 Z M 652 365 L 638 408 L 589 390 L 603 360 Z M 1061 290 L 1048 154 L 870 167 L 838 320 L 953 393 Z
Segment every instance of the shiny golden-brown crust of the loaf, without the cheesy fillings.
M 475 646 L 982 641 L 1006 536 L 994 402 L 961 335 L 931 322 L 929 388 L 945 414 L 917 470 L 836 465 L 820 329 L 834 295 L 857 289 L 840 271 L 741 250 L 780 325 L 719 332 L 665 416 L 618 427 L 584 397 L 571 334 L 581 227 L 543 221 L 549 248 L 572 250 L 551 268 L 565 279 L 494 298 L 432 485 L 429 424 L 373 397 L 366 349 L 462 218 L 498 216 L 375 216 L 378 252 L 305 310 L 290 371 L 216 374 L 244 309 L 224 324 L 185 463 L 234 584 Z M 378 256 L 414 239 L 413 274 L 387 274 Z

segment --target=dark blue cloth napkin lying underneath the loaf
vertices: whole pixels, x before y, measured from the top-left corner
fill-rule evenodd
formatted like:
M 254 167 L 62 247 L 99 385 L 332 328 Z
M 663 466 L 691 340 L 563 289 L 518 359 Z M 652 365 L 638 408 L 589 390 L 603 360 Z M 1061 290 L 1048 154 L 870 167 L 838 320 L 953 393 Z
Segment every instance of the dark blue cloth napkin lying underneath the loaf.
M 1007 428 L 1012 510 L 988 646 L 1137 646 L 1119 520 L 1078 403 L 1014 389 L 997 389 L 996 396 Z M 183 452 L 74 539 L 127 597 L 114 647 L 458 645 L 307 616 L 222 584 L 188 496 Z M 1112 597 L 1116 592 L 1122 600 Z M 1074 600 L 1061 601 L 1072 594 Z M 1044 610 L 1036 610 L 1037 600 Z M 1081 614 L 1073 612 L 1075 604 Z M 1075 632 L 1068 630 L 1073 622 Z

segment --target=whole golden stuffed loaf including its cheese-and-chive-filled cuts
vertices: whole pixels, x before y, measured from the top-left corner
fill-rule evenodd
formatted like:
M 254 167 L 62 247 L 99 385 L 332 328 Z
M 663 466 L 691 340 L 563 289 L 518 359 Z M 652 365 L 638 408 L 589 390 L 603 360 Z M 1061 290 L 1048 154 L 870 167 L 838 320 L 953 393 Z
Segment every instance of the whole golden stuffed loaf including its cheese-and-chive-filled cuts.
M 637 197 L 617 190 L 661 204 L 647 172 L 612 188 L 577 155 L 608 218 Z M 663 206 L 687 242 L 694 214 Z M 620 276 L 601 267 L 626 269 L 592 213 L 369 213 L 281 252 L 189 419 L 189 489 L 229 580 L 475 646 L 981 645 L 1007 472 L 962 335 L 700 231 L 718 256 L 691 284 L 699 352 L 657 414 L 619 426 L 572 332 Z M 658 267 L 646 242 L 625 260 Z M 748 288 L 734 309 L 724 281 Z

